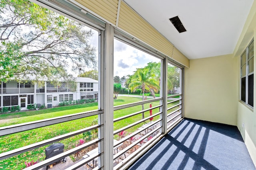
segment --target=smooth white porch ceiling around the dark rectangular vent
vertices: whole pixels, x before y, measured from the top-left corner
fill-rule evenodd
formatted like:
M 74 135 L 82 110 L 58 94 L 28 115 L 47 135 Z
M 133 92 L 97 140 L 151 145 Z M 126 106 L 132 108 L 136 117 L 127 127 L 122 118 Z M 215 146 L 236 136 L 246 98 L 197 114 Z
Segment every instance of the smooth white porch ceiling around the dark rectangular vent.
M 232 54 L 254 0 L 124 0 L 188 59 Z M 169 18 L 179 16 L 186 32 Z

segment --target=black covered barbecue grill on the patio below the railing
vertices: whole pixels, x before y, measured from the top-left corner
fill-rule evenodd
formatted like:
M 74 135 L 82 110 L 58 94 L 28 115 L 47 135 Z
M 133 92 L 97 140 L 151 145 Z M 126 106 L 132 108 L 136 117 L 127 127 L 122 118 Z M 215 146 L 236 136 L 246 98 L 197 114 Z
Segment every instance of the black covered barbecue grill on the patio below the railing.
M 45 155 L 46 155 L 45 159 L 56 156 L 56 155 L 62 153 L 63 150 L 64 150 L 63 143 L 54 143 L 45 149 Z M 66 162 L 67 159 L 63 158 L 62 161 Z M 58 160 L 57 162 L 60 162 L 60 160 Z M 57 162 L 55 162 L 55 163 L 57 163 Z M 48 166 L 46 166 L 46 170 L 48 170 Z

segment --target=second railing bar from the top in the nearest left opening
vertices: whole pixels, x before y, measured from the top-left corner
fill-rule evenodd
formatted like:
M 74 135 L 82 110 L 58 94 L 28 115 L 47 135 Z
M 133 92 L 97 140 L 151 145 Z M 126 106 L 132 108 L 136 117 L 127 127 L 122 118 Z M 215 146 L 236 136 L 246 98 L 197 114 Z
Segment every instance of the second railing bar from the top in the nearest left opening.
M 25 146 L 25 147 L 21 147 L 21 148 L 18 148 L 18 149 L 10 150 L 8 152 L 1 153 L 0 154 L 0 160 L 6 159 L 6 158 L 10 158 L 12 156 L 15 156 L 15 155 L 27 152 L 29 150 L 33 150 L 33 149 L 39 148 L 39 147 L 43 147 L 45 145 L 48 145 L 48 144 L 51 144 L 51 143 L 54 143 L 54 142 L 57 142 L 57 141 L 61 141 L 63 139 L 67 139 L 69 137 L 72 137 L 72 136 L 75 136 L 75 135 L 79 135 L 81 133 L 84 133 L 86 131 L 91 131 L 92 129 L 96 129 L 96 128 L 99 128 L 99 127 L 102 127 L 102 125 L 93 125 L 91 127 L 80 129 L 78 131 L 74 131 L 74 132 L 71 132 L 71 133 L 67 133 L 67 134 L 64 134 L 64 135 L 53 137 L 51 139 L 47 139 L 47 140 L 44 140 L 44 141 L 41 141 L 41 142 L 33 143 L 33 144 Z

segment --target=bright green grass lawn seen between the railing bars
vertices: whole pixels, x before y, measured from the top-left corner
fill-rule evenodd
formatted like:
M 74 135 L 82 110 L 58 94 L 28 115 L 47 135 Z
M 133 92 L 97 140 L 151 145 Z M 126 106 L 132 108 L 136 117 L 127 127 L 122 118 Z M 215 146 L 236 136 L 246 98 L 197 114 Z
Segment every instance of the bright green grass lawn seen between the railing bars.
M 118 99 L 114 100 L 114 106 L 128 104 L 132 102 L 138 102 L 141 100 L 142 100 L 141 98 L 120 96 L 118 97 Z M 159 102 L 153 102 L 152 105 L 153 107 L 157 106 L 159 105 Z M 145 109 L 149 108 L 149 104 L 145 104 L 144 107 Z M 98 109 L 97 102 L 90 103 L 90 104 L 82 104 L 82 105 L 55 107 L 51 109 L 42 109 L 37 111 L 7 113 L 7 114 L 0 115 L 0 127 L 29 122 L 29 121 L 36 121 L 39 119 L 46 119 L 50 117 L 57 117 L 57 116 L 68 115 L 73 113 L 79 113 L 83 111 L 90 111 L 95 109 Z M 122 117 L 124 115 L 134 113 L 136 111 L 140 111 L 141 109 L 142 109 L 142 106 L 140 105 L 140 106 L 129 107 L 127 109 L 117 110 L 117 111 L 114 111 L 114 118 Z M 159 109 L 154 109 L 153 113 L 156 113 L 158 111 Z M 145 112 L 144 114 L 145 114 L 145 117 L 148 117 L 149 111 Z M 130 117 L 128 119 L 124 119 L 122 121 L 116 122 L 114 123 L 114 130 L 120 129 L 121 127 L 134 123 L 140 120 L 141 118 L 142 118 L 142 115 L 139 114 L 139 115 Z M 159 116 L 154 117 L 154 120 L 158 118 Z M 30 145 L 32 143 L 36 143 L 39 141 L 44 141 L 46 139 L 50 139 L 52 137 L 56 137 L 72 131 L 76 131 L 78 129 L 89 127 L 91 126 L 92 121 L 94 121 L 95 119 L 97 119 L 97 115 L 0 137 L 0 153 L 17 149 L 20 147 L 24 147 L 26 145 Z M 146 121 L 146 123 L 147 122 L 149 122 L 149 120 Z M 134 132 L 141 125 L 142 124 L 134 126 L 130 129 L 127 129 L 127 135 L 129 133 Z M 82 134 L 74 137 L 70 137 L 60 142 L 64 143 L 65 145 L 64 150 L 68 150 L 68 149 L 74 148 L 77 141 L 81 138 L 82 138 Z M 115 139 L 118 139 L 117 135 L 115 136 Z M 25 168 L 25 164 L 24 164 L 25 161 L 27 162 L 32 160 L 42 161 L 45 158 L 44 149 L 46 147 L 47 146 L 44 146 L 23 154 L 16 155 L 12 158 L 2 160 L 0 161 L 0 169 L 1 168 L 2 169 L 23 169 Z

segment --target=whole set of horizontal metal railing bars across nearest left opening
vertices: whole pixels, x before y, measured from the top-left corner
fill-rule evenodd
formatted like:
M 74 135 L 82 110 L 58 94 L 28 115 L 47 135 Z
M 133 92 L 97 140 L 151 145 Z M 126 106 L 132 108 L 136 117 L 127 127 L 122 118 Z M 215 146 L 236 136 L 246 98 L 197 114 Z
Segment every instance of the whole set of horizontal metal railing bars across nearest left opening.
M 98 114 L 102 114 L 102 113 L 104 113 L 103 110 L 88 111 L 88 112 L 65 115 L 65 116 L 60 116 L 60 117 L 55 117 L 55 118 L 50 118 L 50 119 L 43 119 L 43 120 L 40 120 L 40 121 L 33 121 L 33 122 L 28 122 L 28 123 L 21 123 L 21 124 L 17 124 L 17 125 L 0 127 L 0 136 L 9 135 L 9 134 L 12 134 L 12 133 L 17 133 L 17 132 L 21 132 L 21 131 L 30 130 L 30 129 L 35 129 L 35 128 L 38 128 L 38 127 L 48 126 L 48 125 L 52 125 L 52 124 L 62 123 L 62 122 L 66 122 L 66 121 L 72 121 L 74 119 L 80 119 L 80 118 L 89 117 L 89 116 L 92 116 L 92 115 L 98 115 Z M 93 126 L 90 126 L 90 127 L 84 128 L 84 129 L 80 129 L 78 131 L 70 132 L 70 133 L 67 133 L 67 134 L 64 134 L 64 135 L 53 137 L 51 139 L 40 141 L 38 143 L 34 143 L 34 144 L 31 144 L 31 145 L 28 145 L 28 146 L 25 146 L 25 147 L 10 150 L 8 152 L 3 152 L 3 153 L 0 154 L 0 160 L 10 158 L 12 156 L 22 154 L 22 153 L 27 152 L 29 150 L 37 149 L 39 147 L 43 147 L 43 146 L 52 144 L 54 142 L 61 141 L 63 139 L 67 139 L 67 138 L 82 134 L 84 132 L 91 131 L 93 129 L 103 127 L 103 126 L 104 126 L 103 124 L 102 125 L 93 125 Z M 103 139 L 95 139 L 95 140 L 90 141 L 86 144 L 80 145 L 80 146 L 78 146 L 74 149 L 70 149 L 70 150 L 68 150 L 64 153 L 58 154 L 57 156 L 54 156 L 52 158 L 48 158 L 47 160 L 44 160 L 44 161 L 39 162 L 39 163 L 37 163 L 33 166 L 30 166 L 30 167 L 26 168 L 26 170 L 27 169 L 36 170 L 36 169 L 42 168 L 44 166 L 47 166 L 47 165 L 52 164 L 54 162 L 57 162 L 58 160 L 61 160 L 62 158 L 65 158 L 66 156 L 69 156 L 70 154 L 74 154 L 74 153 L 76 153 L 76 152 L 78 152 L 82 149 L 90 147 L 90 146 L 92 146 L 92 145 L 94 145 L 94 144 L 96 144 L 96 143 L 98 143 L 102 140 Z M 94 158 L 100 156 L 101 154 L 102 153 L 97 154 L 97 155 L 89 156 L 88 158 L 83 160 L 83 163 L 86 164 L 86 163 L 90 162 L 91 160 L 93 160 Z

